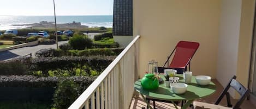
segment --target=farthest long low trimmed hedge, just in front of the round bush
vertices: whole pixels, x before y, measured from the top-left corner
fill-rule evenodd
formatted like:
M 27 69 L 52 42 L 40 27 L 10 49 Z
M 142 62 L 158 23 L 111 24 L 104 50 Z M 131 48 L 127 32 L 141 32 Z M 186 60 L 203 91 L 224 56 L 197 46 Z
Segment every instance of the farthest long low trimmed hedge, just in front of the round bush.
M 66 47 L 66 46 L 65 46 Z M 60 47 L 60 48 L 63 48 Z M 62 50 L 62 49 L 41 49 L 35 53 L 37 57 L 59 57 L 59 56 L 93 56 L 93 55 L 119 55 L 123 48 L 94 48 L 85 50 Z

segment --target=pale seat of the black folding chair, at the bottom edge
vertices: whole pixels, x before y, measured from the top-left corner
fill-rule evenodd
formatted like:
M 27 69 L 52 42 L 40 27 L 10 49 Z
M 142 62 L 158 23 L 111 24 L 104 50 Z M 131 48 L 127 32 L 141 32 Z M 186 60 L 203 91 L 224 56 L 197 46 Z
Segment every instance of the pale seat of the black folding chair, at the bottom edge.
M 221 105 L 208 104 L 205 102 L 194 101 L 194 107 L 203 107 L 203 108 L 211 108 L 211 109 L 232 109 L 232 107 L 224 107 Z

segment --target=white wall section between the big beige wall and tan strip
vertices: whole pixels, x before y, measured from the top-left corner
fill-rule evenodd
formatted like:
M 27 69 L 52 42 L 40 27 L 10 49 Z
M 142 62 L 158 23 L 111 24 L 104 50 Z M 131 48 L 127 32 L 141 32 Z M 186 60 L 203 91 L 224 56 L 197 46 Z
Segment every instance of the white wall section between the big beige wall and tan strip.
M 223 87 L 236 75 L 241 9 L 241 0 L 222 0 L 216 77 Z

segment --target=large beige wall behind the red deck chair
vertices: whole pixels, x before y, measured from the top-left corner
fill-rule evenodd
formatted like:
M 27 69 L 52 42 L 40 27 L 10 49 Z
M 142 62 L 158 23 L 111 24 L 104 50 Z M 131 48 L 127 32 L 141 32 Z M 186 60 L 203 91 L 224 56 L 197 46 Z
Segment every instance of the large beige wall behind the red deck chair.
M 148 61 L 163 66 L 181 40 L 200 47 L 192 59 L 194 75 L 216 78 L 220 0 L 136 0 L 134 35 L 141 35 L 139 72 L 144 76 Z

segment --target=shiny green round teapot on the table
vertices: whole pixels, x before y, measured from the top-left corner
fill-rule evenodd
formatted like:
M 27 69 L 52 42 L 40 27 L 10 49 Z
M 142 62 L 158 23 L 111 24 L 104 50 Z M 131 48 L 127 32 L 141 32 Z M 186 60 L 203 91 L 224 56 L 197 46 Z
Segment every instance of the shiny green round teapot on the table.
M 159 81 L 154 74 L 145 74 L 144 78 L 141 79 L 141 86 L 144 89 L 156 89 L 159 86 Z

